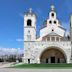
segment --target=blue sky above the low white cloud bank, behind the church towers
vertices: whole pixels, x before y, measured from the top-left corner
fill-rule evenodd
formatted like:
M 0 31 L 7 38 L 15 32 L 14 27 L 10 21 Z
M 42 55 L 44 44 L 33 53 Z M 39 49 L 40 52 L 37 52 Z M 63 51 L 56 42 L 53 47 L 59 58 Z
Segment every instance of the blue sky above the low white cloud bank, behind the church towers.
M 72 0 L 0 0 L 0 47 L 23 48 L 23 15 L 32 8 L 37 15 L 37 34 L 55 6 L 57 18 L 67 31 L 72 14 Z

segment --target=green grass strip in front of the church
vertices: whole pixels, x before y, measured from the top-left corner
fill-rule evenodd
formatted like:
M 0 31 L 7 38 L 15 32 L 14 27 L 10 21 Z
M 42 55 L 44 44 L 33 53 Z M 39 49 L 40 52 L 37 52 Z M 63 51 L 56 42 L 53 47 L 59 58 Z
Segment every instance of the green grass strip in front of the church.
M 12 68 L 72 68 L 72 64 L 20 64 Z

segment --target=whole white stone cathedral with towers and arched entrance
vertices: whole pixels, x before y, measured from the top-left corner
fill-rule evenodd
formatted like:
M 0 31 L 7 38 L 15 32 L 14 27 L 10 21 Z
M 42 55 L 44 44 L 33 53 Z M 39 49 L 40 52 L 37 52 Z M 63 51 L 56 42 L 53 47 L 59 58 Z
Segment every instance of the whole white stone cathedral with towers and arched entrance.
M 24 57 L 23 62 L 30 63 L 71 63 L 72 62 L 72 16 L 70 16 L 70 35 L 57 19 L 52 5 L 49 17 L 36 36 L 36 14 L 30 8 L 24 14 Z

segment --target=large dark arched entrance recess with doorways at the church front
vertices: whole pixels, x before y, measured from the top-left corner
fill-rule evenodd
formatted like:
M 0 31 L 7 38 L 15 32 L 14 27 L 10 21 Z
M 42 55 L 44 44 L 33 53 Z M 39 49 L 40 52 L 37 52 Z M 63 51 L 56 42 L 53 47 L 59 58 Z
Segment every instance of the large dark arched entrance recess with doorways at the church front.
M 41 54 L 40 63 L 66 63 L 66 56 L 57 48 L 49 48 Z

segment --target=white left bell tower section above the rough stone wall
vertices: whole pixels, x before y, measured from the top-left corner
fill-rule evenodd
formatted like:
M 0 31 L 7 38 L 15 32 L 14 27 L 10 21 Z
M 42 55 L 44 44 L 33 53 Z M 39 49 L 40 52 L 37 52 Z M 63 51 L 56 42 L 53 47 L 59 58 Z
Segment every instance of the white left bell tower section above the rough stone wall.
M 36 15 L 30 8 L 24 15 L 24 41 L 36 39 Z

